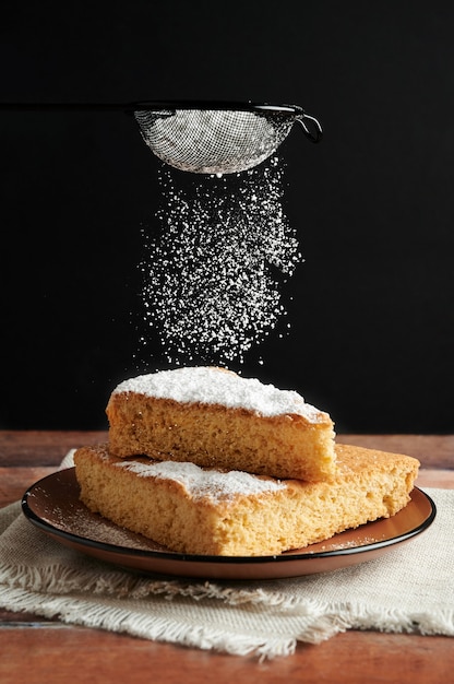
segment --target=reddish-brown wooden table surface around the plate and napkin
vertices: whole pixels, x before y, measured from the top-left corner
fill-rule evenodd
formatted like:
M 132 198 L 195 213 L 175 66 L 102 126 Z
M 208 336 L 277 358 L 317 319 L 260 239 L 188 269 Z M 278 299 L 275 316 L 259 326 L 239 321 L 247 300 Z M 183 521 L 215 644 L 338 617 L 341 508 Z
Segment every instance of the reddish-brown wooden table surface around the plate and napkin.
M 97 432 L 0 431 L 0 507 L 53 472 L 68 449 L 106 440 Z M 418 485 L 454 488 L 454 435 L 338 435 L 337 441 L 407 453 L 421 461 Z M 68 626 L 0 609 L 0 682 L 278 682 L 307 684 L 447 683 L 454 640 L 449 637 L 350 630 L 294 656 L 207 652 L 126 635 Z

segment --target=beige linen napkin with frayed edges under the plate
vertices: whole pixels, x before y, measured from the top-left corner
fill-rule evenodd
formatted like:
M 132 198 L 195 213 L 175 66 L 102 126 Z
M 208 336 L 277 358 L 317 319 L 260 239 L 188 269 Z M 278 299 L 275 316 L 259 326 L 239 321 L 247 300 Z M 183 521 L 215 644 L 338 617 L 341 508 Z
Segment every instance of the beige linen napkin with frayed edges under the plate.
M 15 503 L 0 510 L 0 606 L 262 658 L 351 628 L 454 636 L 454 491 L 426 491 L 438 515 L 410 542 L 353 567 L 264 581 L 129 573 L 52 541 Z

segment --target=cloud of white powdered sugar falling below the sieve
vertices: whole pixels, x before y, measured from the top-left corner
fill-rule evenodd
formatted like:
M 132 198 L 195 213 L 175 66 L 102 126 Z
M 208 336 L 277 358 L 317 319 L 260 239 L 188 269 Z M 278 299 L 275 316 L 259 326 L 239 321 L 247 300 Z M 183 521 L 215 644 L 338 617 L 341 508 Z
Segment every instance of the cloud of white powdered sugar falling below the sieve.
M 280 284 L 301 260 L 283 212 L 283 170 L 274 157 L 192 187 L 177 181 L 160 169 L 159 235 L 144 231 L 141 343 L 157 334 L 177 365 L 243 363 L 286 315 Z

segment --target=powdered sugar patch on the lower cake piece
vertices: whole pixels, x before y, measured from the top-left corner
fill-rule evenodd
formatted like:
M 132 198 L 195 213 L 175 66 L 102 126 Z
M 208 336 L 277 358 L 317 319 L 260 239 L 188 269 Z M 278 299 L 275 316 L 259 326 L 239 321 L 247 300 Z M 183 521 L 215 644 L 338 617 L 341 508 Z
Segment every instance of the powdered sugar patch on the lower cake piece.
M 284 490 L 286 485 L 277 480 L 264 480 L 241 471 L 222 472 L 203 470 L 190 462 L 124 461 L 116 463 L 140 477 L 157 477 L 171 480 L 183 485 L 194 499 L 208 498 L 214 503 L 229 499 L 237 495 L 266 494 Z

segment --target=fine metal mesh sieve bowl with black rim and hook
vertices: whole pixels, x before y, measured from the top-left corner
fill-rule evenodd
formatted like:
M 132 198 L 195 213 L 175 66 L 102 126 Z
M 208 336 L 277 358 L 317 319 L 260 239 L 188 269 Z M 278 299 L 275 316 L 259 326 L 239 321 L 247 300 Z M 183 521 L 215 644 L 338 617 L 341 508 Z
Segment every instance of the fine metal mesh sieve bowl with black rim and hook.
M 134 116 L 156 156 L 195 174 L 231 174 L 256 166 L 277 150 L 295 121 L 312 142 L 322 138 L 319 121 L 296 105 L 150 103 Z

